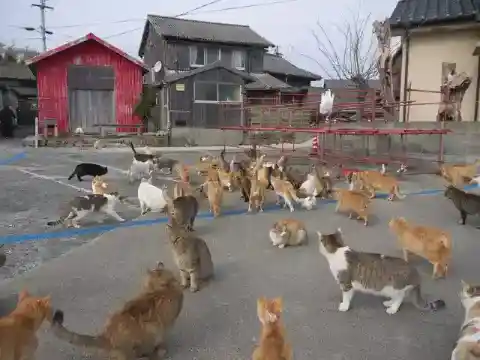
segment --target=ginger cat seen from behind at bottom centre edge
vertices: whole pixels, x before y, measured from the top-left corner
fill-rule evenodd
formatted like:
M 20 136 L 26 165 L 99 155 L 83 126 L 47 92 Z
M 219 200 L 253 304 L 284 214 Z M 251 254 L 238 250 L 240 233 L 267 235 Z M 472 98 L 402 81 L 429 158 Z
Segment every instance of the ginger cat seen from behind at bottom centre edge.
M 291 360 L 292 348 L 285 339 L 282 324 L 283 301 L 281 298 L 257 300 L 257 316 L 262 324 L 260 341 L 253 351 L 252 360 Z

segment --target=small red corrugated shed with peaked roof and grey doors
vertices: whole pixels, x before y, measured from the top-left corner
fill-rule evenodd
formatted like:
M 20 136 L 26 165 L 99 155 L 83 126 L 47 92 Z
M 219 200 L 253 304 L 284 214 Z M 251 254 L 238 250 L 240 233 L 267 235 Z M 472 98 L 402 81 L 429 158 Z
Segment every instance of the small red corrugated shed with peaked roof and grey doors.
M 42 53 L 28 65 L 37 77 L 40 128 L 45 119 L 56 120 L 60 133 L 141 122 L 133 109 L 148 69 L 94 34 Z M 134 130 L 127 126 L 117 131 Z

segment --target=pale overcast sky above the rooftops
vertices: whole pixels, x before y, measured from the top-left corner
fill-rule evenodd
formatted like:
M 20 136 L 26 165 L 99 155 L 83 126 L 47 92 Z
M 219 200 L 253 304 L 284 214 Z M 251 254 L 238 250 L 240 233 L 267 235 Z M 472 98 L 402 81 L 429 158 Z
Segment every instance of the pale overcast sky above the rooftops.
M 53 11 L 47 10 L 46 15 L 47 29 L 54 32 L 48 37 L 48 48 L 93 32 L 129 54 L 138 56 L 147 14 L 175 16 L 210 1 L 47 0 L 47 5 L 55 8 Z M 325 77 L 315 62 L 302 55 L 315 57 L 328 66 L 311 35 L 317 21 L 326 28 L 333 43 L 341 43 L 342 38 L 333 24 L 351 16 L 352 10 L 364 16 L 371 14 L 372 20 L 382 20 L 390 16 L 397 3 L 397 0 L 290 0 L 267 6 L 215 11 L 276 1 L 280 0 L 221 0 L 185 18 L 250 25 L 260 35 L 277 44 L 285 57 L 295 65 Z M 20 28 L 40 24 L 40 10 L 32 7 L 31 3 L 31 0 L 0 0 L 0 14 L 4 14 L 0 22 L 0 42 L 41 49 L 39 34 Z

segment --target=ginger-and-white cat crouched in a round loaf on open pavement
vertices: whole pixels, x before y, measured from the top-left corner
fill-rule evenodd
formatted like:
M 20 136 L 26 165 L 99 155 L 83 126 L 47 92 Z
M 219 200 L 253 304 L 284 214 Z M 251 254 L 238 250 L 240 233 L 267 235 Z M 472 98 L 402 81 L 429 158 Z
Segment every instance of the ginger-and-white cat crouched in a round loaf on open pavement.
M 285 246 L 303 245 L 308 242 L 305 224 L 296 219 L 283 219 L 273 224 L 269 232 L 273 246 L 283 249 Z

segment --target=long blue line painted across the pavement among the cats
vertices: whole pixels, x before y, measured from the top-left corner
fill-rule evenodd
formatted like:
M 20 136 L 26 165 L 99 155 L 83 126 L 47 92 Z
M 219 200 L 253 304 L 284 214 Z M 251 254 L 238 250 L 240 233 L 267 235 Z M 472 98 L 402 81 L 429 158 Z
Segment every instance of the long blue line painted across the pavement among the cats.
M 464 189 L 465 190 L 472 190 L 478 188 L 478 185 L 468 185 Z M 433 195 L 443 193 L 444 189 L 425 189 L 421 191 L 411 192 L 406 195 L 408 196 L 420 196 L 420 195 Z M 385 199 L 388 194 L 385 193 L 378 193 L 376 198 Z M 320 200 L 320 204 L 332 204 L 336 202 L 336 200 Z M 318 202 L 317 202 L 318 203 Z M 265 212 L 279 210 L 280 207 L 278 205 L 268 206 L 265 207 Z M 235 215 L 242 215 L 247 214 L 247 211 L 244 209 L 235 209 L 235 210 L 227 210 L 222 212 L 223 216 L 235 216 Z M 213 219 L 213 216 L 210 213 L 200 213 L 197 216 L 197 219 Z M 137 226 L 149 226 L 155 224 L 164 224 L 167 222 L 166 217 L 160 217 L 157 219 L 149 219 L 149 220 L 131 220 L 126 221 L 123 223 L 116 223 L 111 225 L 99 225 L 99 226 L 92 226 L 87 228 L 79 228 L 79 229 L 66 229 L 61 231 L 53 231 L 53 232 L 45 232 L 45 233 L 37 233 L 37 234 L 18 234 L 18 235 L 7 235 L 7 236 L 0 236 L 0 244 L 14 244 L 19 242 L 25 241 L 38 241 L 38 240 L 47 240 L 47 239 L 55 239 L 55 238 L 68 238 L 74 236 L 82 236 L 82 235 L 92 235 L 103 233 L 119 228 L 130 228 L 130 227 L 137 227 Z

